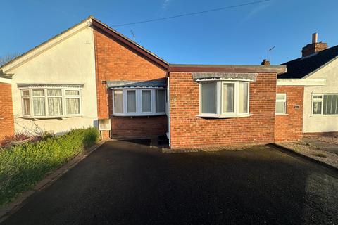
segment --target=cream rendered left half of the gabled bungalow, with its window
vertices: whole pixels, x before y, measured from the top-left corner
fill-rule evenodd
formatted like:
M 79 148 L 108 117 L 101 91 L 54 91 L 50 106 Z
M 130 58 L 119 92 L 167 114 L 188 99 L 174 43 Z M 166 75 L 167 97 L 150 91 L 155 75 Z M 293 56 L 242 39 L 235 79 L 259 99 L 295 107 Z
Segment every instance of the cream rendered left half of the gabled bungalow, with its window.
M 97 125 L 90 25 L 84 20 L 0 68 L 11 77 L 15 132 L 63 134 Z

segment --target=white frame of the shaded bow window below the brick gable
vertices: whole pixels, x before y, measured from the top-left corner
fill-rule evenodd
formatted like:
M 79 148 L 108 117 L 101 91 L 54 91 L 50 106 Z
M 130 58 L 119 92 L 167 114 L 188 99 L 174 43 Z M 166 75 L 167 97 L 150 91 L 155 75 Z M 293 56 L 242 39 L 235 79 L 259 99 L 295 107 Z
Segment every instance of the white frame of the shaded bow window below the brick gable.
M 156 90 L 164 90 L 164 111 L 156 113 Z M 156 116 L 156 115 L 166 115 L 167 112 L 167 95 L 166 89 L 162 87 L 158 88 L 115 88 L 111 89 L 112 91 L 112 108 L 113 113 L 112 116 L 120 116 L 120 117 L 142 117 L 142 116 Z M 115 91 L 122 91 L 123 96 L 123 113 L 115 112 Z M 135 91 L 136 95 L 136 112 L 127 112 L 127 91 Z M 143 112 L 142 108 L 142 91 L 150 91 L 151 96 L 151 111 Z

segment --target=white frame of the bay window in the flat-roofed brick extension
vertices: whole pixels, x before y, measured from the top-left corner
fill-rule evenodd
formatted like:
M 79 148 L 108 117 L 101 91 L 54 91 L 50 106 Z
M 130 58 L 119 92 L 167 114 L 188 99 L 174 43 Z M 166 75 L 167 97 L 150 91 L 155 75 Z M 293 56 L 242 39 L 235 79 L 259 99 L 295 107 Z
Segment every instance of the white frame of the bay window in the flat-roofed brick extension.
M 202 84 L 216 82 L 216 113 L 202 113 Z M 247 83 L 247 112 L 239 113 L 239 83 Z M 223 113 L 223 84 L 234 84 L 234 112 Z M 231 118 L 250 116 L 250 82 L 246 80 L 205 80 L 199 81 L 199 117 Z

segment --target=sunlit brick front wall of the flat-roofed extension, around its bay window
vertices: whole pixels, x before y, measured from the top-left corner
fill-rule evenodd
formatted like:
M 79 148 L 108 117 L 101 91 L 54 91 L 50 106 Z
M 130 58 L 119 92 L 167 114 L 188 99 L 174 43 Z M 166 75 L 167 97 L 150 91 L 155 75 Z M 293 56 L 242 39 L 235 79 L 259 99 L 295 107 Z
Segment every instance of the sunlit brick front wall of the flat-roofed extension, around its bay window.
M 206 119 L 199 114 L 199 84 L 191 73 L 170 72 L 172 148 L 271 143 L 275 136 L 276 75 L 259 74 L 250 84 L 250 117 Z

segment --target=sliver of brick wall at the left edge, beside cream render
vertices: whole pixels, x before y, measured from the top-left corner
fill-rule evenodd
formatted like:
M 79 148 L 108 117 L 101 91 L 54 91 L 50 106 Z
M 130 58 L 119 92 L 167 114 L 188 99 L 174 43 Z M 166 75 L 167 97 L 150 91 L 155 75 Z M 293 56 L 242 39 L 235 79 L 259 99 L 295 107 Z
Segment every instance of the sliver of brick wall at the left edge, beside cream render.
M 5 136 L 14 134 L 11 84 L 0 83 L 0 145 Z

